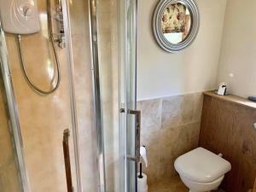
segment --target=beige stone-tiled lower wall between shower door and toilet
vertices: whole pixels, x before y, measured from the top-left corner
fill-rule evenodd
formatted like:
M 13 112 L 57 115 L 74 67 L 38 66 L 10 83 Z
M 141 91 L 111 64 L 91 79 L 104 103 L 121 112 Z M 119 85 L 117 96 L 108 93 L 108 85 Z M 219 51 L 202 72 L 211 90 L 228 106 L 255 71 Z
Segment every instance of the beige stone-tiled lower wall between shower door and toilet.
M 148 148 L 148 183 L 176 174 L 174 160 L 199 141 L 202 94 L 168 96 L 137 102 L 142 111 L 141 144 Z

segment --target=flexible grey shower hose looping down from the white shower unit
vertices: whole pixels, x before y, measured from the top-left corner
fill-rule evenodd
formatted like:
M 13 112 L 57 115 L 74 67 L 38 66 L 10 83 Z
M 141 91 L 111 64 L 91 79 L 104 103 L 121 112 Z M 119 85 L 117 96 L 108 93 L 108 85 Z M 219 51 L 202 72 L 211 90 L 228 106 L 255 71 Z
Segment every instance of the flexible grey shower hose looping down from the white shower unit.
M 59 61 L 59 57 L 57 55 L 56 46 L 55 46 L 54 37 L 53 37 L 52 22 L 51 22 L 51 10 L 50 9 L 51 9 L 50 0 L 47 0 L 49 42 L 51 43 L 52 48 L 53 48 L 53 52 L 54 52 L 54 55 L 55 55 L 56 70 L 57 70 L 57 82 L 56 82 L 55 86 L 53 88 L 51 88 L 50 90 L 43 90 L 43 89 L 39 88 L 36 84 L 34 84 L 32 82 L 32 79 L 30 79 L 30 77 L 29 77 L 29 75 L 26 71 L 26 67 L 25 67 L 26 64 L 25 64 L 25 59 L 24 59 L 24 55 L 23 55 L 21 35 L 19 34 L 17 36 L 19 51 L 20 51 L 20 61 L 21 61 L 22 71 L 25 75 L 25 78 L 26 78 L 28 84 L 31 85 L 32 89 L 38 91 L 38 93 L 40 93 L 42 95 L 49 95 L 49 94 L 53 93 L 55 90 L 58 89 L 58 87 L 60 85 L 60 82 L 61 82 L 61 67 L 60 67 L 60 61 Z

